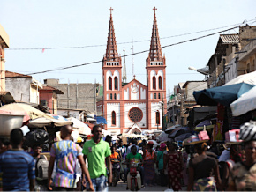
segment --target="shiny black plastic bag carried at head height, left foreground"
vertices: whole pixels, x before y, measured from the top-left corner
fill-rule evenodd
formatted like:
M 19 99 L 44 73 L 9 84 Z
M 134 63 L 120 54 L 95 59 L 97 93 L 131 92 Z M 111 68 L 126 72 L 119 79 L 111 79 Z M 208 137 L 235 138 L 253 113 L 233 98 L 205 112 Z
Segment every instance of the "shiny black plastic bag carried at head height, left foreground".
M 49 142 L 49 134 L 43 129 L 34 129 L 26 133 L 24 144 L 32 147 L 34 145 L 43 145 Z

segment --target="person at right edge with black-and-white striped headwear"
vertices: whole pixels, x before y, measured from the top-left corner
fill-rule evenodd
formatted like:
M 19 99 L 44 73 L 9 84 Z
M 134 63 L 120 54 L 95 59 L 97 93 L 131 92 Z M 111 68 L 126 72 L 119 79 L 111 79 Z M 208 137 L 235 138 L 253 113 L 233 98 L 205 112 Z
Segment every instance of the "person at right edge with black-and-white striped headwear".
M 244 141 L 245 161 L 238 162 L 230 173 L 229 188 L 232 191 L 256 190 L 256 122 L 247 122 L 240 128 Z

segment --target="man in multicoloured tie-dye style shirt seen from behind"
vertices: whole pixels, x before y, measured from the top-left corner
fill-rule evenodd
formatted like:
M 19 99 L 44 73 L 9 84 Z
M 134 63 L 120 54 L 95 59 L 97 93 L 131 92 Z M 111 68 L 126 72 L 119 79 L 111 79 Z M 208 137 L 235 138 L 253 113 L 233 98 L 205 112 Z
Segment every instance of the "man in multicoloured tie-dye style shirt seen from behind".
M 56 174 L 53 176 L 52 184 L 56 191 L 73 191 L 76 186 L 76 166 L 77 159 L 82 172 L 87 175 L 89 188 L 94 190 L 87 166 L 83 159 L 82 148 L 79 144 L 71 141 L 72 126 L 65 125 L 61 128 L 62 141 L 52 144 L 50 149 L 48 181 L 51 180 L 54 164 L 56 164 Z M 49 189 L 50 182 L 49 182 Z

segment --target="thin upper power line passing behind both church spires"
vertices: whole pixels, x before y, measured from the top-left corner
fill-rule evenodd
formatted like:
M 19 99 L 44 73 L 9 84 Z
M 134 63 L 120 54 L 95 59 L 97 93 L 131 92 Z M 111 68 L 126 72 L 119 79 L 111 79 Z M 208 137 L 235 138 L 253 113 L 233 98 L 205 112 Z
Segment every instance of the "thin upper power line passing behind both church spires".
M 246 21 L 246 20 L 245 20 Z M 181 36 L 185 36 L 185 35 L 190 35 L 190 34 L 195 34 L 195 33 L 203 33 L 203 32 L 209 32 L 209 31 L 213 31 L 213 30 L 217 30 L 217 29 L 222 29 L 222 28 L 226 28 L 226 27 L 230 27 L 230 26 L 238 26 L 241 24 L 245 24 L 245 21 L 243 23 L 237 23 L 237 24 L 233 24 L 233 25 L 229 25 L 229 26 L 221 26 L 221 27 L 216 27 L 216 28 L 212 28 L 212 29 L 206 29 L 206 30 L 201 30 L 198 32 L 192 32 L 192 33 L 183 33 L 183 34 L 176 34 L 176 35 L 172 35 L 172 36 L 168 36 L 168 37 L 162 37 L 160 38 L 161 40 L 163 39 L 169 39 L 169 38 L 174 38 L 174 37 L 181 37 Z M 255 22 L 255 18 L 251 19 L 247 22 L 251 22 L 252 23 Z M 150 41 L 150 40 L 140 40 L 140 41 L 127 41 L 127 42 L 120 42 L 117 43 L 119 45 L 123 45 L 123 44 L 131 44 L 132 42 L 134 43 L 139 43 L 139 42 L 145 42 L 145 41 Z M 97 47 L 102 47 L 102 46 L 107 46 L 106 44 L 100 44 L 100 45 L 87 45 L 87 46 L 74 46 L 74 47 L 53 47 L 53 48 L 8 48 L 6 50 L 52 50 L 52 49 L 70 49 L 70 48 L 97 48 Z

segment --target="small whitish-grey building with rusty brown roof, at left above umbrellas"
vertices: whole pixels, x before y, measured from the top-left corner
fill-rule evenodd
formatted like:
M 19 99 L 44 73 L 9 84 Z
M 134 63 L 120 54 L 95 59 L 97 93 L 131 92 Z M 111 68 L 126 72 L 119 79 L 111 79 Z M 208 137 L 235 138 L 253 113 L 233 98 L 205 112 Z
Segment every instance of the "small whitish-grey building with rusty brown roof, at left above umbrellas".
M 42 84 L 39 81 L 32 78 L 32 76 L 7 70 L 5 71 L 5 77 L 6 91 L 11 92 L 14 100 L 40 104 L 39 90 L 42 88 Z

